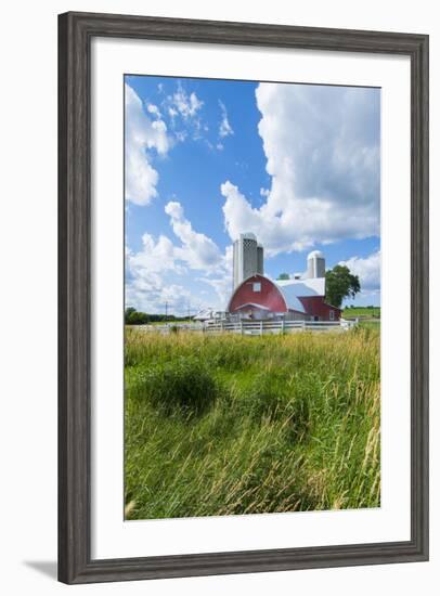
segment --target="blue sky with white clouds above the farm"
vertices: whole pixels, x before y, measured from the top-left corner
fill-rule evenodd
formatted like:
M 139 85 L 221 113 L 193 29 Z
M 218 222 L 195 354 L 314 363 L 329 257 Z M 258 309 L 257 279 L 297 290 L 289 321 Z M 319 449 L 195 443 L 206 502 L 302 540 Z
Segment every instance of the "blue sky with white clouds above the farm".
M 125 96 L 127 306 L 224 308 L 241 232 L 269 276 L 318 248 L 379 305 L 378 89 L 126 76 Z

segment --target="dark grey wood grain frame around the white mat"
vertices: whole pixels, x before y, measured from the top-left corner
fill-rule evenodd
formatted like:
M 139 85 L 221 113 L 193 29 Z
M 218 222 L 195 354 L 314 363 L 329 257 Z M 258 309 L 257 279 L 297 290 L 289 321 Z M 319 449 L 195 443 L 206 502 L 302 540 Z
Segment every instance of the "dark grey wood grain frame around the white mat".
M 90 44 L 93 37 L 411 59 L 411 540 L 95 560 L 90 555 Z M 59 17 L 59 579 L 87 583 L 428 559 L 428 36 L 66 13 Z

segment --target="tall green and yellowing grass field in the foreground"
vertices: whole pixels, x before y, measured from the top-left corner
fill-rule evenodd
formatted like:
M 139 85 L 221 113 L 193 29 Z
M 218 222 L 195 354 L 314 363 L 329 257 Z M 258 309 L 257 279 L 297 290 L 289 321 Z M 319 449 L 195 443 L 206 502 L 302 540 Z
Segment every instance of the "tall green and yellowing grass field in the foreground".
M 126 332 L 126 517 L 380 504 L 379 333 Z

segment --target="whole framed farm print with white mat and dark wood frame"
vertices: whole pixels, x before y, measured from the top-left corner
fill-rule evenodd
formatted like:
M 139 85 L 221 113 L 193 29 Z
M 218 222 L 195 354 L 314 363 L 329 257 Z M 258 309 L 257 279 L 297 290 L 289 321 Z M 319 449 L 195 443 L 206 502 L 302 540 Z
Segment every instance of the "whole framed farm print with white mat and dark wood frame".
M 427 560 L 427 36 L 59 26 L 60 581 Z

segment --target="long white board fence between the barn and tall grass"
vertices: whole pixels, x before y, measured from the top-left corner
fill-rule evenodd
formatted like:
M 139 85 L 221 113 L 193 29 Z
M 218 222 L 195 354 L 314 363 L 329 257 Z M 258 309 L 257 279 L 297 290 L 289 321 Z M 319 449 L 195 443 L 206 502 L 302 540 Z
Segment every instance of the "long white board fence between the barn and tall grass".
M 266 335 L 294 332 L 346 332 L 357 325 L 355 321 L 224 321 L 213 320 L 205 323 L 168 323 L 165 325 L 137 325 L 146 332 L 170 333 L 182 329 L 202 333 L 235 333 L 240 335 Z

